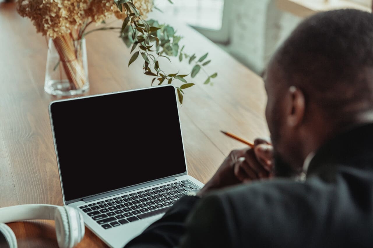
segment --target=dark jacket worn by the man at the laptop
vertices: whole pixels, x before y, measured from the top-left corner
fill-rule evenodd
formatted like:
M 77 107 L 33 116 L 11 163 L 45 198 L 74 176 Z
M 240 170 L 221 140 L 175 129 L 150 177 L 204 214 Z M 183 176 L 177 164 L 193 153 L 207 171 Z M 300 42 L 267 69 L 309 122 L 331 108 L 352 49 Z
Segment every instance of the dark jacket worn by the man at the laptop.
M 126 247 L 373 247 L 373 124 L 323 145 L 304 182 L 181 198 Z

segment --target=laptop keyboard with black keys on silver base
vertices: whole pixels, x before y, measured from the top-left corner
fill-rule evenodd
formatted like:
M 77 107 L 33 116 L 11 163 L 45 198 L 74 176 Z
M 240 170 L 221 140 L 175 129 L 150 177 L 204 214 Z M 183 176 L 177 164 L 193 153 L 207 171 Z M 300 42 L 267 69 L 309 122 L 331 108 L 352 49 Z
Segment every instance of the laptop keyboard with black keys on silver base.
M 175 202 L 201 188 L 189 180 L 176 181 L 136 193 L 79 206 L 104 229 L 165 213 Z

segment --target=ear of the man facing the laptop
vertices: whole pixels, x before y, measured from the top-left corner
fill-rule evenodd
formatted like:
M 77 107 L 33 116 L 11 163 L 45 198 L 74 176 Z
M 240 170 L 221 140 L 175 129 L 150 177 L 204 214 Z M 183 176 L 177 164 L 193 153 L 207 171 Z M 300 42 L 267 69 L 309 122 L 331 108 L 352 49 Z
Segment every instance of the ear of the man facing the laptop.
M 290 127 L 297 127 L 304 118 L 305 99 L 303 92 L 295 87 L 290 86 L 288 89 L 288 108 L 286 111 L 286 123 Z

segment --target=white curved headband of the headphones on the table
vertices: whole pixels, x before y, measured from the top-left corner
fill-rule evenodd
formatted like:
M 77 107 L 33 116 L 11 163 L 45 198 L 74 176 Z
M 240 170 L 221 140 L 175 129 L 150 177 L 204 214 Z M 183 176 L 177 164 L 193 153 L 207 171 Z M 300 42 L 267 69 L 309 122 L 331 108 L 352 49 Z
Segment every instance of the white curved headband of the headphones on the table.
M 23 204 L 0 208 L 0 223 L 23 220 L 54 220 L 57 206 L 49 204 Z

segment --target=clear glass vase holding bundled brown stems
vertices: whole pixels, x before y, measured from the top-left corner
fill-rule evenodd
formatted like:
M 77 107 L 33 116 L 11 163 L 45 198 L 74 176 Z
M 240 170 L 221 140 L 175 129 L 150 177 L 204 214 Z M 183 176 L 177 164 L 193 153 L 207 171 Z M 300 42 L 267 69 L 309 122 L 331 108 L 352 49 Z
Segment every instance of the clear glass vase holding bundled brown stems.
M 74 41 L 69 35 L 50 38 L 44 90 L 55 96 L 73 96 L 89 87 L 85 39 Z

